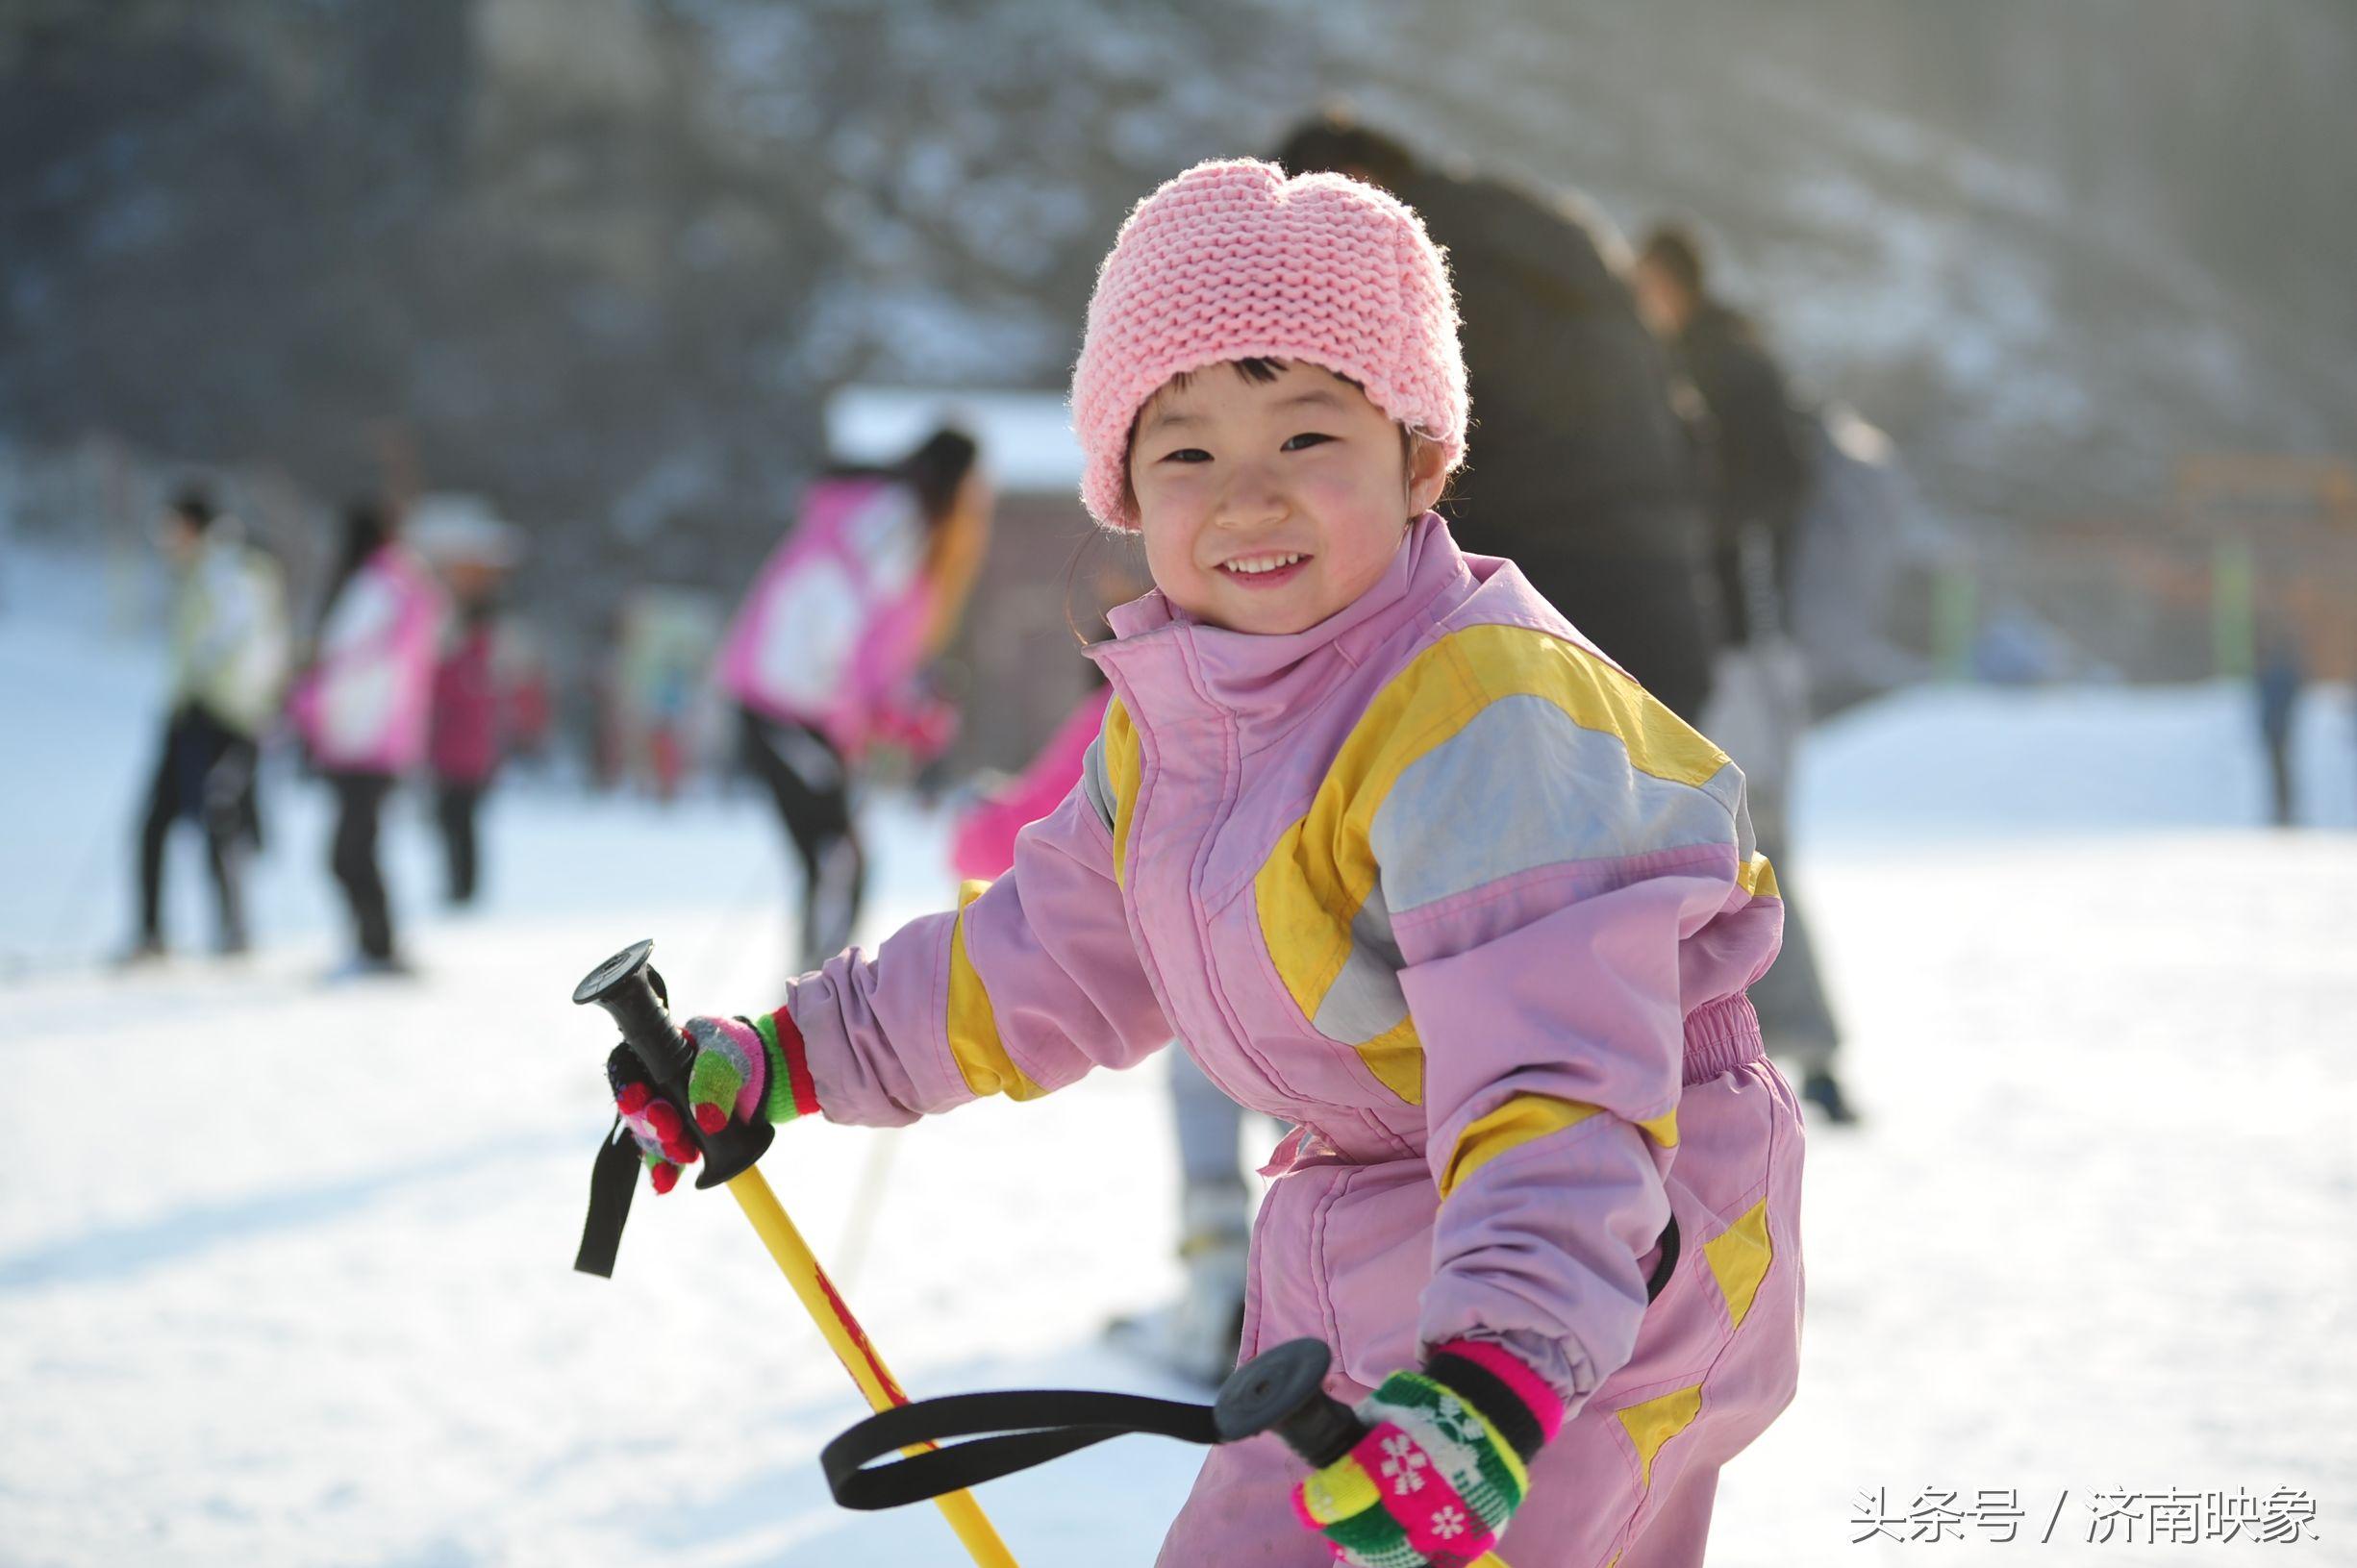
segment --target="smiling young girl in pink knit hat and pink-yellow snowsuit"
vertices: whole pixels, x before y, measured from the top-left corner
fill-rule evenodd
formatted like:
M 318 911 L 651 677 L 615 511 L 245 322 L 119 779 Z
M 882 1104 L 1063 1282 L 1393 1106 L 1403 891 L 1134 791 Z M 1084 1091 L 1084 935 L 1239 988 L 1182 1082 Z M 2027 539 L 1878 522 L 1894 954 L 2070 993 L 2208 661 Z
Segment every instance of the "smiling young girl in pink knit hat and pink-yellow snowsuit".
M 1155 191 L 1072 413 L 1155 578 L 1089 651 L 1115 700 L 1080 785 L 959 913 L 693 1019 L 691 1113 L 907 1122 L 1176 1035 L 1296 1125 L 1242 1351 L 1329 1342 L 1372 1436 L 1308 1478 L 1275 1438 L 1211 1450 L 1160 1561 L 1699 1563 L 1798 1363 L 1742 776 L 1431 512 L 1464 368 L 1393 198 L 1249 160 Z M 629 1063 L 669 1188 L 693 1146 Z

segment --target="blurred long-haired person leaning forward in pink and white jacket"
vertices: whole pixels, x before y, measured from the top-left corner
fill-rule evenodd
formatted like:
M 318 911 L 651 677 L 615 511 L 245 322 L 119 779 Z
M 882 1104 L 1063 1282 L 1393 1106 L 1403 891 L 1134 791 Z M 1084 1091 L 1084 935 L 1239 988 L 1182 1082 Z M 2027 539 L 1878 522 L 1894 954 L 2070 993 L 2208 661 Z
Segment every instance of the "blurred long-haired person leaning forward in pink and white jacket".
M 867 861 L 853 771 L 879 745 L 938 757 L 957 733 L 922 670 L 957 630 L 990 507 L 978 448 L 955 429 L 891 469 L 830 474 L 721 641 L 717 674 L 738 705 L 745 762 L 801 861 L 799 969 L 841 953 L 858 922 Z

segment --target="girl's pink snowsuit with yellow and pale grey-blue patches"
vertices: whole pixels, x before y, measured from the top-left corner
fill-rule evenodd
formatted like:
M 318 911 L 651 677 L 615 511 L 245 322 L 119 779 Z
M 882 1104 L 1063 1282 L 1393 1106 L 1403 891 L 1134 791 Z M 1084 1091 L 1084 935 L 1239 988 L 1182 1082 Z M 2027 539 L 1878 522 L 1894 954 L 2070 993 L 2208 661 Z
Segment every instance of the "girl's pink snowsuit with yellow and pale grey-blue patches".
M 1030 1099 L 1178 1035 L 1296 1125 L 1242 1353 L 1325 1339 L 1355 1403 L 1497 1339 L 1570 1405 L 1499 1554 L 1699 1563 L 1801 1327 L 1801 1118 L 1744 995 L 1782 905 L 1742 773 L 1431 514 L 1308 632 L 1162 594 L 1113 625 L 1103 736 L 1014 870 L 794 986 L 820 1111 Z M 1214 1450 L 1160 1561 L 1327 1563 L 1299 1478 L 1275 1438 Z

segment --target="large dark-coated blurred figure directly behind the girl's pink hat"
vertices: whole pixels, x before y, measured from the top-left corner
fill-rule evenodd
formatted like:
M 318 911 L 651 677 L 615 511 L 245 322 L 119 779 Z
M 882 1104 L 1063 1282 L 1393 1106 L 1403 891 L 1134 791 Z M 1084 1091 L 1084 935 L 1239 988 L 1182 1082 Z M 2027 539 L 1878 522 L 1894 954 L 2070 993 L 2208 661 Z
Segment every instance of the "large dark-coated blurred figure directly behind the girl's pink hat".
M 1711 691 L 1716 613 L 1685 429 L 1659 344 L 1572 196 L 1450 174 L 1322 113 L 1273 153 L 1388 189 L 1450 252 L 1473 441 L 1440 502 L 1457 542 L 1511 556 L 1582 634 L 1685 722 Z

